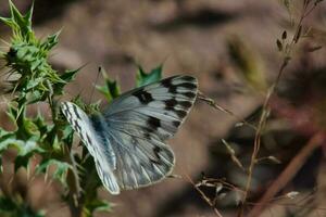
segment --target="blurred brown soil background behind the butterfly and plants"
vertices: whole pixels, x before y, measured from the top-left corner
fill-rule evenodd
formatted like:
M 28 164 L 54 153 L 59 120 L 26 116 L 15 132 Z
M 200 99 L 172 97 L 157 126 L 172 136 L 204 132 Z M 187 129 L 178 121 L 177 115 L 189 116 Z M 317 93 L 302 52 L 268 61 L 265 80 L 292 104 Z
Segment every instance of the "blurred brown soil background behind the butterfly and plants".
M 26 11 L 32 1 L 13 1 Z M 123 91 L 134 87 L 137 64 L 149 72 L 163 63 L 164 77 L 188 74 L 196 76 L 206 97 L 234 115 L 214 110 L 198 101 L 178 133 L 168 143 L 176 154 L 174 174 L 161 183 L 112 196 L 111 214 L 98 216 L 216 216 L 201 197 L 193 182 L 222 179 L 240 189 L 246 173 L 231 159 L 235 151 L 248 168 L 254 130 L 241 119 L 256 125 L 266 88 L 283 63 L 276 39 L 287 30 L 292 37 L 293 23 L 302 8 L 301 0 L 291 2 L 260 0 L 52 0 L 35 1 L 34 30 L 46 37 L 60 29 L 59 44 L 50 58 L 60 71 L 84 66 L 66 89 L 67 99 L 78 93 L 87 102 L 98 66 L 104 66 L 116 78 Z M 9 16 L 8 0 L 0 0 L 1 16 Z M 262 146 L 252 181 L 250 200 L 258 202 L 293 158 L 310 144 L 316 133 L 326 129 L 325 3 L 304 21 L 309 37 L 291 54 L 277 94 L 271 100 L 271 115 L 262 136 Z M 0 37 L 9 41 L 11 31 L 0 25 Z M 314 52 L 312 52 L 314 51 Z M 92 101 L 100 99 L 95 94 Z M 1 105 L 2 104 L 2 105 Z M 0 104 L 0 125 L 5 126 L 4 105 Z M 261 216 L 326 216 L 326 141 L 305 151 L 293 175 L 269 201 Z M 304 150 L 303 150 L 304 151 Z M 300 155 L 301 156 L 301 155 Z M 289 173 L 290 174 L 290 173 Z M 214 184 L 213 184 L 214 186 Z M 239 196 L 234 190 L 216 186 L 201 187 L 216 202 L 223 216 L 236 216 Z M 287 192 L 299 195 L 289 199 Z M 33 206 L 45 208 L 48 216 L 70 216 L 60 203 L 55 184 L 36 179 L 28 189 Z M 278 202 L 283 205 L 279 205 Z M 285 205 L 284 205 L 285 204 Z

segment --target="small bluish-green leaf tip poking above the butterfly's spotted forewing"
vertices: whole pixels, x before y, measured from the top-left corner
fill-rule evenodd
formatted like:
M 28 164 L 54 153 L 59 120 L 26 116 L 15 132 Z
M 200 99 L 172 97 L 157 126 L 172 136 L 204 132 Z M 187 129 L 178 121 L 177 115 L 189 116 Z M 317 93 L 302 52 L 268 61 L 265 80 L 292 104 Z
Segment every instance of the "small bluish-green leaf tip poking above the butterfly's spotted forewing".
M 145 85 L 149 85 L 151 82 L 155 82 L 162 79 L 162 69 L 163 65 L 159 65 L 158 67 L 151 69 L 150 73 L 146 73 L 140 65 L 138 65 L 138 72 L 136 75 L 136 85 L 137 87 L 141 87 Z

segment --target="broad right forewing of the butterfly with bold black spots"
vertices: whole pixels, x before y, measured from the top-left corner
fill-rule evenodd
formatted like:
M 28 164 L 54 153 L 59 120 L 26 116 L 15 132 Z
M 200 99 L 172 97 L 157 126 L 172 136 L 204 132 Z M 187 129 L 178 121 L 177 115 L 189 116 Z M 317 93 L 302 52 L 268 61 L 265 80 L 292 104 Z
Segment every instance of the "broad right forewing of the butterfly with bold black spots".
M 104 116 L 116 124 L 149 128 L 164 141 L 176 132 L 196 95 L 196 78 L 174 76 L 124 93 L 106 107 Z

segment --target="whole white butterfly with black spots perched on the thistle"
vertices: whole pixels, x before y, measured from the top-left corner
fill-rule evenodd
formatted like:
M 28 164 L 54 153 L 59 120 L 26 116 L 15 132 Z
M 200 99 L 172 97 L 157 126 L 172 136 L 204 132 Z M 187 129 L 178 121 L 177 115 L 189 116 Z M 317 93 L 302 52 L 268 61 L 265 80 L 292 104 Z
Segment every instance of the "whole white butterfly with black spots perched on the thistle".
M 161 181 L 175 165 L 172 138 L 198 93 L 191 76 L 173 76 L 114 99 L 101 114 L 88 116 L 72 102 L 61 111 L 93 157 L 98 175 L 112 194 Z

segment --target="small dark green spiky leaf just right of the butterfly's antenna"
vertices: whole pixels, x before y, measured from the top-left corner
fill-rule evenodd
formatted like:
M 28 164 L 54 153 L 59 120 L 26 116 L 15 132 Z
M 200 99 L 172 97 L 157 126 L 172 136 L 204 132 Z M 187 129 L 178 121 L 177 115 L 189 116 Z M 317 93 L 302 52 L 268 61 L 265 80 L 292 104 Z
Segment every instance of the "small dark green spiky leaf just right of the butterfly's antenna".
M 96 86 L 96 89 L 104 94 L 108 102 L 111 102 L 114 98 L 118 97 L 120 86 L 117 85 L 116 80 L 111 80 L 105 71 L 101 67 L 100 73 L 102 74 L 102 77 L 104 78 L 104 85 L 103 86 Z

